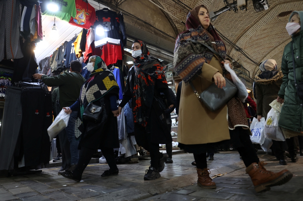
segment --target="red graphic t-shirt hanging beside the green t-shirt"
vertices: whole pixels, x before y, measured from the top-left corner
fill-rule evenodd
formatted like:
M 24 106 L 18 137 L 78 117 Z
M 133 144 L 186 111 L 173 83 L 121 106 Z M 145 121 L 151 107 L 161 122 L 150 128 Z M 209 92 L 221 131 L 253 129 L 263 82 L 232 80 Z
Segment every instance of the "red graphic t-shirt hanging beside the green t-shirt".
M 76 16 L 71 17 L 69 24 L 77 27 L 89 29 L 96 21 L 95 8 L 83 0 L 76 0 Z

